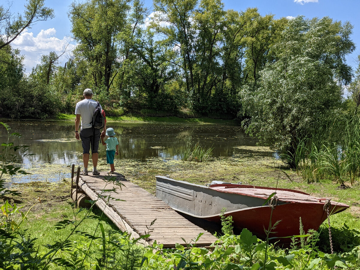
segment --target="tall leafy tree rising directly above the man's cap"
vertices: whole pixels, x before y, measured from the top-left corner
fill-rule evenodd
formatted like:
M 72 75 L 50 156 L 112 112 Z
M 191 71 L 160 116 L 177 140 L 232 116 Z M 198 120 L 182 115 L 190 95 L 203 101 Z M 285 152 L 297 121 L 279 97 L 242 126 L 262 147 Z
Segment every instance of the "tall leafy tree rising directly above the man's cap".
M 72 3 L 69 18 L 78 42 L 75 55 L 83 60 L 96 87 L 109 91 L 113 67 L 117 64 L 118 33 L 123 30 L 130 0 L 91 0 Z M 88 78 L 89 80 L 89 78 Z

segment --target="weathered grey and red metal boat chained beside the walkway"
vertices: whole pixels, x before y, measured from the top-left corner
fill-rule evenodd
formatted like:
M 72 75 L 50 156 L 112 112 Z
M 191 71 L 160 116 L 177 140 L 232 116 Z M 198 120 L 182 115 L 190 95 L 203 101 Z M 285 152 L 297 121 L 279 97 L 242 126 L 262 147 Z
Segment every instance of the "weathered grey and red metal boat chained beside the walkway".
M 300 234 L 300 218 L 305 232 L 318 230 L 328 217 L 327 209 L 333 215 L 349 207 L 298 190 L 215 182 L 202 186 L 156 176 L 156 197 L 180 213 L 218 224 L 221 210 L 226 208 L 224 215 L 233 217 L 235 229 L 247 228 L 262 239 L 271 217 L 271 226 L 279 223 L 269 237 L 282 243 Z

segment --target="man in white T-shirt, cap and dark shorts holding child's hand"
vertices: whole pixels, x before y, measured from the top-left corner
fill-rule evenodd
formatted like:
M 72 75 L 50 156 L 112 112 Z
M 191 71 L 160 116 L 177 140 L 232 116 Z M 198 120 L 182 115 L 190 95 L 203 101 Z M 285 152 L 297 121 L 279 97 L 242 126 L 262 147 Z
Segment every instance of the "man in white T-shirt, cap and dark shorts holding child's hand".
M 93 97 L 93 91 L 89 88 L 84 90 L 83 100 L 76 103 L 75 108 L 75 138 L 79 140 L 81 138 L 82 143 L 82 160 L 84 161 L 84 171 L 81 175 L 88 175 L 87 165 L 89 163 L 90 156 L 90 145 L 91 145 L 91 158 L 93 159 L 93 175 L 99 175 L 100 172 L 96 169 L 98 165 L 98 149 L 99 149 L 99 140 L 100 140 L 100 130 L 93 129 L 92 119 L 93 114 L 96 108 L 96 101 L 91 99 Z M 101 105 L 100 105 L 101 107 Z M 79 132 L 79 124 L 81 118 L 81 131 Z M 105 135 L 106 124 L 101 135 Z M 95 135 L 94 135 L 95 131 Z

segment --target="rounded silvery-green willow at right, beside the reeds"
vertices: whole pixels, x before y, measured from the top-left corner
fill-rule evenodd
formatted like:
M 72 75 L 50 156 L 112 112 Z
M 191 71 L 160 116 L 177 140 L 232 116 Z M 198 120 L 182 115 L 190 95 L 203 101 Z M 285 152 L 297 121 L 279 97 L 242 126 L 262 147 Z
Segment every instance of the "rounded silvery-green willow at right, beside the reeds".
M 244 93 L 251 115 L 247 131 L 287 154 L 291 166 L 299 141 L 341 104 L 340 82 L 351 79 L 345 62 L 355 48 L 351 29 L 328 17 L 289 20 L 272 48 L 274 62 L 260 72 L 260 87 Z

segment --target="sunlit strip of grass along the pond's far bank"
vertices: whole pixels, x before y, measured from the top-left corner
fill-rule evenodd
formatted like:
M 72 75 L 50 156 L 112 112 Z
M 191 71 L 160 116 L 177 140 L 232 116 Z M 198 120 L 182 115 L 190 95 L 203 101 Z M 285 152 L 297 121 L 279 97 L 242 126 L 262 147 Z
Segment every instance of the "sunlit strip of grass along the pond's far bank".
M 75 120 L 73 114 L 59 113 L 56 117 L 51 118 L 51 120 Z M 224 119 L 213 119 L 209 117 L 199 117 L 199 118 L 181 118 L 176 116 L 164 116 L 164 117 L 155 117 L 155 116 L 132 116 L 132 115 L 123 115 L 123 116 L 107 116 L 106 120 L 109 122 L 118 121 L 118 122 L 159 122 L 159 123 L 194 123 L 194 124 L 226 124 L 226 125 L 237 125 L 238 121 L 236 120 L 224 120 Z

